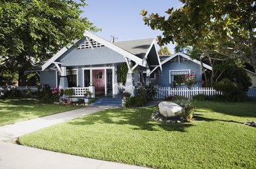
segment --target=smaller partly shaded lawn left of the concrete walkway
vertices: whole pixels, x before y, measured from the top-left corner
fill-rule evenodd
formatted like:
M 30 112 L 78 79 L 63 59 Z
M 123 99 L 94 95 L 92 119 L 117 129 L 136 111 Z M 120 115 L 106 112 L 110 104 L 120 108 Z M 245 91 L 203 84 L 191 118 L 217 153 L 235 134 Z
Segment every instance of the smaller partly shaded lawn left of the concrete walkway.
M 35 99 L 0 99 L 0 126 L 81 107 L 43 104 Z

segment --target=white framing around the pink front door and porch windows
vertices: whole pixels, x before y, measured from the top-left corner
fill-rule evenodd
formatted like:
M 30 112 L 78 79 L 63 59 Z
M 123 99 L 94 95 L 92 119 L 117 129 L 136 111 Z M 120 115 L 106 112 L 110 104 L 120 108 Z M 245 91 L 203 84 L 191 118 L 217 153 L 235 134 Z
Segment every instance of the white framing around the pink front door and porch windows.
M 114 71 L 115 71 L 115 67 L 83 67 L 83 87 L 85 87 L 85 71 L 84 70 L 90 70 L 90 82 L 92 81 L 92 70 L 98 70 L 98 69 L 102 69 L 104 70 L 105 73 L 105 79 L 104 79 L 104 91 L 105 91 L 105 95 L 106 95 L 106 69 L 112 69 L 112 94 L 115 94 L 115 88 L 114 88 Z

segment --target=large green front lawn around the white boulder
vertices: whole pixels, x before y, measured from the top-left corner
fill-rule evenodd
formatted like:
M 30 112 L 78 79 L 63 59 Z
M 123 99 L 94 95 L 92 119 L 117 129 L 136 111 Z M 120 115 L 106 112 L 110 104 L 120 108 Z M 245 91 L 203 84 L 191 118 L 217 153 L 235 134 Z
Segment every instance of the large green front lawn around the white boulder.
M 255 168 L 255 102 L 196 102 L 192 122 L 161 124 L 154 108 L 109 109 L 38 130 L 23 145 L 152 168 Z

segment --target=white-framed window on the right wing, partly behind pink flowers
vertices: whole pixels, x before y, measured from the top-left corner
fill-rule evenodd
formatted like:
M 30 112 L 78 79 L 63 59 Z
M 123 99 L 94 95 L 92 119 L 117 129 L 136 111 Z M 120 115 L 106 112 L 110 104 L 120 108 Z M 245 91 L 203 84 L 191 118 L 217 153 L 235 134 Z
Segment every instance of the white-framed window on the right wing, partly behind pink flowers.
M 185 75 L 189 74 L 190 70 L 184 71 L 170 71 L 170 80 L 171 84 L 175 83 L 177 85 L 184 85 Z

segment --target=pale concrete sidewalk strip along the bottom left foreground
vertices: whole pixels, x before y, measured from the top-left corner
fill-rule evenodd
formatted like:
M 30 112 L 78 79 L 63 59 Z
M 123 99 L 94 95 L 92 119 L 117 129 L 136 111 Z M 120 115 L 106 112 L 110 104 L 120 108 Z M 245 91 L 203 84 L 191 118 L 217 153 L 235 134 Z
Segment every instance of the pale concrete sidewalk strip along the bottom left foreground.
M 0 142 L 1 169 L 146 169 Z

